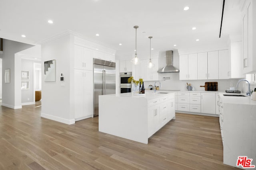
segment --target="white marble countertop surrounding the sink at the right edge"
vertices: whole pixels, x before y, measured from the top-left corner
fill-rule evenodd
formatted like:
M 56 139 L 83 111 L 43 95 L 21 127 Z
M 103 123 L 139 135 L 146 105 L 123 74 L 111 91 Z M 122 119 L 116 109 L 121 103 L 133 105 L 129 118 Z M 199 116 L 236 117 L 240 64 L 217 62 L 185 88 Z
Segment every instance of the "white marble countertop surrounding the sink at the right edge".
M 256 105 L 256 101 L 252 100 L 250 96 L 248 97 L 237 97 L 237 96 L 223 96 L 223 94 L 237 95 L 241 94 L 246 96 L 245 93 L 225 93 L 219 92 L 222 102 L 225 104 L 244 104 L 244 105 Z

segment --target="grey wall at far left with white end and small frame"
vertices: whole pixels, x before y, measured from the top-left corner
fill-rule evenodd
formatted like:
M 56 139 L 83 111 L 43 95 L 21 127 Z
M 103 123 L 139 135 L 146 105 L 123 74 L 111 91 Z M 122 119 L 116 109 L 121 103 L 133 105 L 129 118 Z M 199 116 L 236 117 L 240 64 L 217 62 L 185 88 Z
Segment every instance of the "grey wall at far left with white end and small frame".
M 15 53 L 32 46 L 30 44 L 3 39 L 2 106 L 13 109 L 21 108 L 21 59 L 16 59 Z M 8 68 L 10 68 L 10 83 L 4 83 L 4 71 Z

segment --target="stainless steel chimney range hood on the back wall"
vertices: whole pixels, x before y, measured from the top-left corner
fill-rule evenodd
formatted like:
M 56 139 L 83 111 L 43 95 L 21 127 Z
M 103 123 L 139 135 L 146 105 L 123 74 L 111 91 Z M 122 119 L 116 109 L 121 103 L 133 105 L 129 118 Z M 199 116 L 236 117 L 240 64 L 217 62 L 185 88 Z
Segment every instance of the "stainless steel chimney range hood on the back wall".
M 166 51 L 166 66 L 164 68 L 161 68 L 157 72 L 159 73 L 165 73 L 165 72 L 179 72 L 177 68 L 173 66 L 173 51 Z

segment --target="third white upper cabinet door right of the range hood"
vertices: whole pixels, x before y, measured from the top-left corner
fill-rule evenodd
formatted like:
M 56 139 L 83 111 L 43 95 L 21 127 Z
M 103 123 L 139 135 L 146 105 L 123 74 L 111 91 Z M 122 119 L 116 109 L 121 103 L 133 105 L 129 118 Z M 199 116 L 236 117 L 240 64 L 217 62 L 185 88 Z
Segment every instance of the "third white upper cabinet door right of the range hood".
M 207 52 L 197 54 L 197 75 L 198 80 L 208 79 L 207 74 Z

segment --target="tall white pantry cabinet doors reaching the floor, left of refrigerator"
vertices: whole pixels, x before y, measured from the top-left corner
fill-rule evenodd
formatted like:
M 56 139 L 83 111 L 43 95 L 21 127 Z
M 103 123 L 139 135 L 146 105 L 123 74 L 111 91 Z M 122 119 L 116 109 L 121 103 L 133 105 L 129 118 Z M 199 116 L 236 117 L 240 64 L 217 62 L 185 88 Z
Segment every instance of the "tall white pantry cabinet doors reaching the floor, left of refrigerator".
M 75 120 L 93 117 L 93 73 L 74 69 Z

